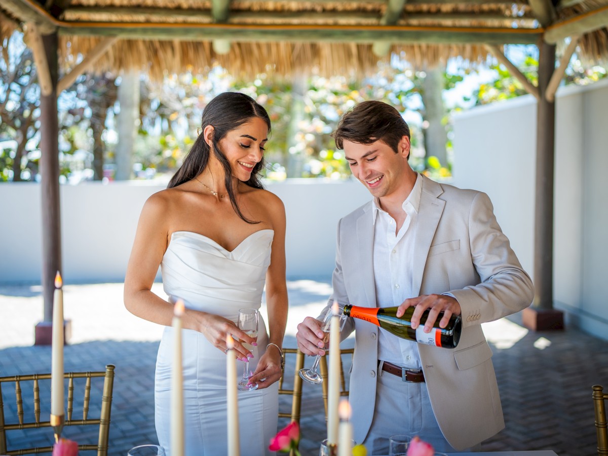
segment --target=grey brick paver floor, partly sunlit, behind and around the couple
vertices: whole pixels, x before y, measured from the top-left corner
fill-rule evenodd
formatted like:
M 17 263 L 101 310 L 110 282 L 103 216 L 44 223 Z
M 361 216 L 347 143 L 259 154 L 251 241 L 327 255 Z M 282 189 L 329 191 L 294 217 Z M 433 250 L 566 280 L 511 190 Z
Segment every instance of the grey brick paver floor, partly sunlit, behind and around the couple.
M 331 291 L 329 284 L 328 279 L 289 281 L 285 346 L 295 347 L 295 326 L 303 317 L 318 313 Z M 162 285 L 155 284 L 153 290 L 164 296 Z M 66 318 L 72 320 L 71 344 L 65 348 L 66 371 L 116 365 L 109 454 L 125 455 L 137 444 L 156 443 L 154 362 L 162 328 L 126 311 L 122 283 L 66 285 L 64 308 Z M 0 286 L 0 376 L 50 371 L 50 347 L 33 346 L 33 328 L 42 315 L 40 287 Z M 486 441 L 482 449 L 552 449 L 559 456 L 595 454 L 591 387 L 608 387 L 608 342 L 573 328 L 533 333 L 519 322 L 515 315 L 483 325 L 494 351 L 506 429 Z M 353 339 L 343 344 L 352 346 Z M 348 358 L 344 361 L 348 370 Z M 306 365 L 311 362 L 307 357 Z M 288 359 L 286 372 L 288 385 L 293 359 Z M 2 395 L 9 419 L 15 407 L 8 403 L 14 399 L 5 390 Z M 24 392 L 24 402 L 31 402 L 31 396 Z M 43 415 L 49 413 L 44 399 L 43 394 Z M 282 410 L 289 409 L 290 399 L 280 398 Z M 286 423 L 281 420 L 279 426 Z M 303 387 L 301 426 L 302 455 L 316 456 L 325 434 L 320 387 Z M 40 429 L 38 434 L 14 432 L 10 438 L 15 443 L 49 444 L 48 429 Z M 67 428 L 65 435 L 70 437 Z

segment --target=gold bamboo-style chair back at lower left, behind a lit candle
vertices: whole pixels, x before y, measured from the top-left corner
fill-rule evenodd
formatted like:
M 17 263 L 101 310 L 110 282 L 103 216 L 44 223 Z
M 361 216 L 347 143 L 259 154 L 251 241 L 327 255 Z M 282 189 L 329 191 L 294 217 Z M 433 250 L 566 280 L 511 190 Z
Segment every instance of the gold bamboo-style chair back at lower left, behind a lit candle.
M 89 418 L 89 405 L 91 404 L 91 379 L 103 377 L 103 393 L 101 400 L 101 410 L 99 418 Z M 78 443 L 78 449 L 95 450 L 97 456 L 106 456 L 108 454 L 108 437 L 110 426 L 110 412 L 112 406 L 112 389 L 114 387 L 114 365 L 106 365 L 105 371 L 100 372 L 66 372 L 64 378 L 69 379 L 67 386 L 67 413 L 64 426 L 98 426 L 99 432 L 97 435 L 97 444 L 81 444 Z M 74 379 L 84 378 L 85 391 L 82 406 L 82 420 L 72 419 L 74 412 Z M 39 381 L 49 380 L 50 374 L 33 374 L 33 375 L 16 375 L 9 377 L 0 377 L 0 454 L 6 455 L 21 455 L 33 453 L 52 452 L 52 445 L 44 447 L 30 447 L 20 449 L 7 448 L 7 431 L 16 429 L 34 429 L 39 427 L 52 427 L 49 421 L 40 420 L 40 385 Z M 27 421 L 24 418 L 22 384 L 24 382 L 32 382 L 33 389 L 33 421 Z M 5 407 L 2 401 L 2 385 L 12 383 L 15 385 L 15 404 L 16 417 L 13 422 L 5 421 Z M 50 382 L 49 382 L 50 384 Z M 50 390 L 50 388 L 49 388 Z M 29 395 L 26 395 L 29 397 Z M 46 402 L 46 401 L 45 401 Z M 10 409 L 7 404 L 7 409 Z M 21 438 L 21 440 L 23 440 Z M 49 443 L 54 441 L 54 434 L 49 429 Z

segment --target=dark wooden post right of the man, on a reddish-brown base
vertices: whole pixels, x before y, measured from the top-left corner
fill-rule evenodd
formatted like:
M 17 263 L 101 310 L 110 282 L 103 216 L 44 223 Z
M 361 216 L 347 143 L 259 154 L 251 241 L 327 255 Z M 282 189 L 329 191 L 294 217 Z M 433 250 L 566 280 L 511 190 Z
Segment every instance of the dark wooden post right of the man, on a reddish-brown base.
M 524 309 L 522 322 L 532 330 L 561 330 L 564 316 L 553 309 L 553 176 L 555 103 L 545 92 L 555 69 L 555 45 L 541 40 L 536 114 L 536 207 L 534 210 L 533 306 Z

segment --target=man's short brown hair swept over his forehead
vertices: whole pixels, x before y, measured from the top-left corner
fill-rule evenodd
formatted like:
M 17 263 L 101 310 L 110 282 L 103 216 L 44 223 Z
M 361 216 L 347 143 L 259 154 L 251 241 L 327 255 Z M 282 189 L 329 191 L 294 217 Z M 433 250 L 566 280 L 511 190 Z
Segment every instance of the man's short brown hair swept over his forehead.
M 393 106 L 372 100 L 361 102 L 344 114 L 331 136 L 339 149 L 344 149 L 344 141 L 371 144 L 381 140 L 398 153 L 399 141 L 410 137 L 410 128 Z

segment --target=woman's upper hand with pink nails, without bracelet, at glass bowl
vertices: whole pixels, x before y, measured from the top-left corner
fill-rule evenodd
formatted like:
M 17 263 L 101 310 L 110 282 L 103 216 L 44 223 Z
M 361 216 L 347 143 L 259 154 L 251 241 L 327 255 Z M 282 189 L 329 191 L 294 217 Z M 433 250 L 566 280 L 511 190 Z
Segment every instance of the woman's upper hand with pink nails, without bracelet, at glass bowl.
M 226 353 L 228 348 L 226 345 L 226 336 L 230 334 L 232 339 L 234 339 L 234 349 L 237 352 L 237 359 L 246 361 L 247 358 L 252 358 L 254 356 L 247 348 L 243 347 L 241 342 L 244 341 L 251 345 L 257 345 L 257 342 L 255 342 L 257 339 L 247 336 L 247 334 L 238 329 L 237 325 L 232 321 L 215 314 L 193 311 L 192 309 L 186 310 L 186 313 L 188 314 L 192 312 L 196 312 L 195 318 L 198 322 L 196 325 L 197 330 L 199 333 L 202 333 L 214 347 L 217 347 L 219 350 Z

